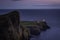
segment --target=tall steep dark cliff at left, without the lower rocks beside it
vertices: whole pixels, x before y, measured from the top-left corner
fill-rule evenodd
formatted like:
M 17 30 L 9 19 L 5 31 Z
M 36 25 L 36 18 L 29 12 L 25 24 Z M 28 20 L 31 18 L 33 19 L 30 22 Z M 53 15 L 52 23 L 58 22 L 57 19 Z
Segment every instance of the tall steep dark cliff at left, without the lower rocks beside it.
M 12 11 L 0 15 L 0 40 L 18 40 L 19 13 Z

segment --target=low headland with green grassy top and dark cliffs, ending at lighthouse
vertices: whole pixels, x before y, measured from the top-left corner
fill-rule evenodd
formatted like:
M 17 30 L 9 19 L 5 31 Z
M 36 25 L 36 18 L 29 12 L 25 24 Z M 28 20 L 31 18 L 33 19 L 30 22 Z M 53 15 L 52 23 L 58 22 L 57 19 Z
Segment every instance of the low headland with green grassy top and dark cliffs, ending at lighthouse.
M 26 23 L 26 24 L 25 24 Z M 37 23 L 36 21 L 23 21 L 21 23 L 24 27 L 28 28 L 31 35 L 39 35 L 41 31 L 46 31 L 50 27 L 46 22 L 40 21 Z

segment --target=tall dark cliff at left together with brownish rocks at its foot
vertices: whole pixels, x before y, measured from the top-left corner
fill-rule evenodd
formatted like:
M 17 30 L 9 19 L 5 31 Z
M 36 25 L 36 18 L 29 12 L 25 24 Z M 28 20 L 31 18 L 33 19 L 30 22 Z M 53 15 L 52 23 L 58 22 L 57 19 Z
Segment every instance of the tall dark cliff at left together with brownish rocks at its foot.
M 19 12 L 0 15 L 0 40 L 30 40 L 29 30 L 20 25 Z

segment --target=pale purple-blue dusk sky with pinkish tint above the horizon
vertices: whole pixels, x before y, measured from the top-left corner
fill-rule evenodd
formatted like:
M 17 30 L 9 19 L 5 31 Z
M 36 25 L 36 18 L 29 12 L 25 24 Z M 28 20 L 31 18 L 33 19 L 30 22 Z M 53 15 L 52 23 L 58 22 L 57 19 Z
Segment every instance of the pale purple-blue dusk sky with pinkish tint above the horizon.
M 60 0 L 0 0 L 0 9 L 60 9 Z

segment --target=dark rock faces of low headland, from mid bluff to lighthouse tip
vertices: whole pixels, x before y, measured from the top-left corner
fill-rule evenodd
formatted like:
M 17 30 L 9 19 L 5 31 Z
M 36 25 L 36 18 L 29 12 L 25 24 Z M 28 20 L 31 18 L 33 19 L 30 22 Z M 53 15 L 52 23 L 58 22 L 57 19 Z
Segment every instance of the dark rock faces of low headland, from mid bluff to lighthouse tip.
M 30 29 L 30 34 L 31 35 L 39 35 L 41 31 L 46 31 L 47 29 L 50 29 L 50 27 L 47 25 L 45 21 L 40 21 L 39 23 L 35 22 L 36 26 L 27 26 L 27 28 Z

